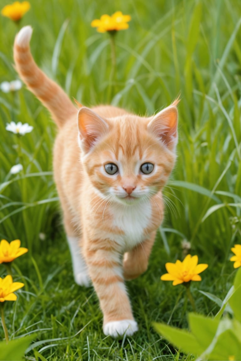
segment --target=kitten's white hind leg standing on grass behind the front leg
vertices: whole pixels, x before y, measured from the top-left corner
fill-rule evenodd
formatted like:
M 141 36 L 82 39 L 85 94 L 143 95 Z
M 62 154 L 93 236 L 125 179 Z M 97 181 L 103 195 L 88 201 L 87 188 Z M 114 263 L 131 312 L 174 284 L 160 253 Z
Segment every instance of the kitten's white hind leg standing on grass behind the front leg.
M 91 286 L 90 277 L 88 274 L 85 260 L 81 253 L 81 245 L 78 237 L 68 236 L 70 255 L 72 258 L 72 266 L 74 273 L 74 280 L 79 286 Z

